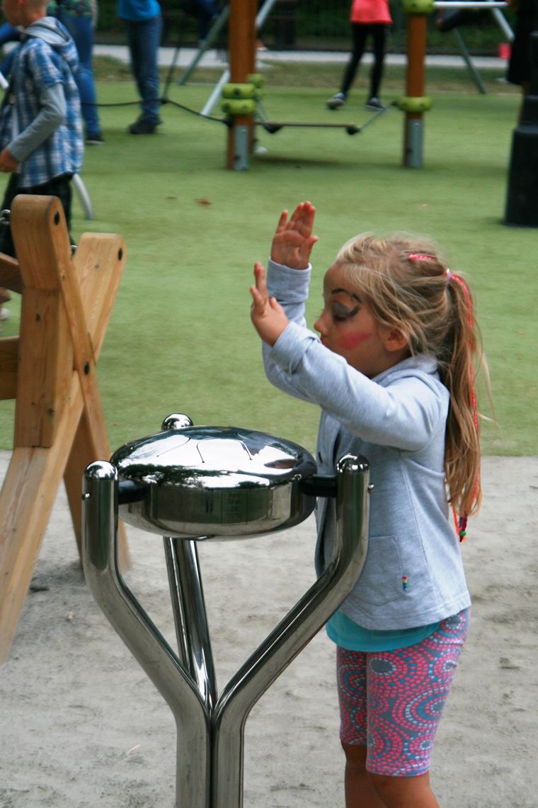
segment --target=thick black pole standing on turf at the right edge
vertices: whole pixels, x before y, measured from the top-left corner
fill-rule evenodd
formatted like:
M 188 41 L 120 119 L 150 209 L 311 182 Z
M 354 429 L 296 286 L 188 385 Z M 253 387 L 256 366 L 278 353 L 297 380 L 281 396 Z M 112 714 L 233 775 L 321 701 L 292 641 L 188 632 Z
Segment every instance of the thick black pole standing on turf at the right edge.
M 512 134 L 504 224 L 538 227 L 538 30 L 530 48 L 531 85 Z

